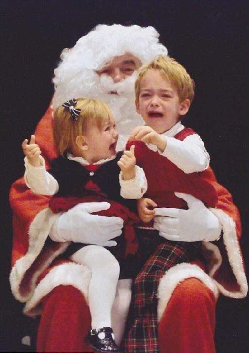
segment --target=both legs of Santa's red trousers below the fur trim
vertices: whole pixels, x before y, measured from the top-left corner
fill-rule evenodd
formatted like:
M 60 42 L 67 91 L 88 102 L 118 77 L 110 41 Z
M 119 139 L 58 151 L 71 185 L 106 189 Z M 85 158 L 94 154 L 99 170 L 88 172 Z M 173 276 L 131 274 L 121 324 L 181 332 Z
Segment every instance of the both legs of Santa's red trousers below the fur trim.
M 37 352 L 92 352 L 85 343 L 90 312 L 83 295 L 59 286 L 43 299 Z M 199 280 L 175 289 L 159 323 L 160 353 L 215 353 L 215 298 Z

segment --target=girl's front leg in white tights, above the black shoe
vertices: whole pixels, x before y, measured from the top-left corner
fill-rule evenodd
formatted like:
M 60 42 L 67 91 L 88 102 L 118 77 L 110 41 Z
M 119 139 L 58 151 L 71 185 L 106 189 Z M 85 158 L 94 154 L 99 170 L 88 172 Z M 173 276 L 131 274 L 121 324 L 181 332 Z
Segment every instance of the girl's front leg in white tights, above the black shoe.
M 111 308 L 120 271 L 116 258 L 104 247 L 87 245 L 75 252 L 71 260 L 92 272 L 88 295 L 91 328 L 112 327 Z

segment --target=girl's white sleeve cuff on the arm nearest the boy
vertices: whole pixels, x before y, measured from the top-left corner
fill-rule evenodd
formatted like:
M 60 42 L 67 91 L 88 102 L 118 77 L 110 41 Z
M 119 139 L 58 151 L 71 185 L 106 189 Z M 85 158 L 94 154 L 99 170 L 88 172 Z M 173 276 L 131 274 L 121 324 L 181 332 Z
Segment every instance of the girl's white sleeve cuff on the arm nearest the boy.
M 130 180 L 123 180 L 122 171 L 119 173 L 119 183 L 121 186 L 120 195 L 127 199 L 139 199 L 147 191 L 147 179 L 144 170 L 135 166 L 135 177 Z

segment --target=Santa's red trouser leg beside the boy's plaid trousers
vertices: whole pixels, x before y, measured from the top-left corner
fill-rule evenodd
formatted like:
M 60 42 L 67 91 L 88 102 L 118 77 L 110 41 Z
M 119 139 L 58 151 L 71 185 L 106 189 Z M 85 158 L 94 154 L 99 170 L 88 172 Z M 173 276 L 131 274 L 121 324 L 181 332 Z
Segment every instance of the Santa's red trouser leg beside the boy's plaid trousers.
M 160 353 L 215 353 L 215 297 L 198 279 L 178 285 L 158 327 Z

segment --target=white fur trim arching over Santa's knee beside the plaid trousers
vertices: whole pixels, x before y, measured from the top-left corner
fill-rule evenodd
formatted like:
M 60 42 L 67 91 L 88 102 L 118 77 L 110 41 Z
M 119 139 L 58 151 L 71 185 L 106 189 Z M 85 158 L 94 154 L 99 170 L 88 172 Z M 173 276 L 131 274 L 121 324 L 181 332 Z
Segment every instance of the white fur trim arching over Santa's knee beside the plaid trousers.
M 177 264 L 166 271 L 165 275 L 160 279 L 158 286 L 159 300 L 157 306 L 158 321 L 160 321 L 165 307 L 168 305 L 170 297 L 176 286 L 183 280 L 190 277 L 199 279 L 202 283 L 204 283 L 204 285 L 211 289 L 215 298 L 218 299 L 219 292 L 214 280 L 211 279 L 200 267 L 186 262 Z

